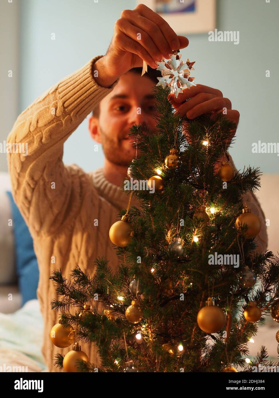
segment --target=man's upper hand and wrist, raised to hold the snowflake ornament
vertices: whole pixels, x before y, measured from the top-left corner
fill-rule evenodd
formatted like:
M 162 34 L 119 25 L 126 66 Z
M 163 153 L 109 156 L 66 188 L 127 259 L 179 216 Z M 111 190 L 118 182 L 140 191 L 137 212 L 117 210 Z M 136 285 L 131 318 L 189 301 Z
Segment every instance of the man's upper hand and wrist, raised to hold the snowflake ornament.
M 155 61 L 169 58 L 173 50 L 188 44 L 188 39 L 178 36 L 160 15 L 139 4 L 135 10 L 122 11 L 116 21 L 106 55 L 93 65 L 93 70 L 98 70 L 95 80 L 109 87 L 131 68 L 142 66 L 142 60 L 157 68 Z

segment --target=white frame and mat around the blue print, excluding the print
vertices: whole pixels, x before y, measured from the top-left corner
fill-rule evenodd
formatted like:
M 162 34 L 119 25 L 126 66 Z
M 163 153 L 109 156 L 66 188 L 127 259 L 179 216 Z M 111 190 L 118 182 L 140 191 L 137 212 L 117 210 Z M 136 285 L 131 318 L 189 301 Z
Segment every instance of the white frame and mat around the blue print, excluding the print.
M 195 2 L 194 11 L 158 14 L 180 35 L 214 31 L 216 27 L 216 0 L 193 0 L 193 2 Z M 138 0 L 138 4 L 140 3 L 156 11 L 156 0 Z

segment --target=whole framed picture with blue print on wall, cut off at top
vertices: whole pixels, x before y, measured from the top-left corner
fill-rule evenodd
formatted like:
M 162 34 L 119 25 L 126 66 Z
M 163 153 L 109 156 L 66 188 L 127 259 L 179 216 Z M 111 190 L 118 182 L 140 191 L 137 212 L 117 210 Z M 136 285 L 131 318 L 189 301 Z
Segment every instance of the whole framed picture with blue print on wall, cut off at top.
M 157 12 L 178 34 L 215 29 L 216 0 L 138 0 Z

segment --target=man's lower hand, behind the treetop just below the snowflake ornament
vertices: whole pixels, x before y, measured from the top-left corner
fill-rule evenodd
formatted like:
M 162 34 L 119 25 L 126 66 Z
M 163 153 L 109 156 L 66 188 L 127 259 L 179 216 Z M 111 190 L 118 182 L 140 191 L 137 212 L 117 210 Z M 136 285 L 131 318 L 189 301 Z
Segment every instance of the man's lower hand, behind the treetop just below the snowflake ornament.
M 185 100 L 188 101 L 185 102 Z M 176 109 L 176 113 L 181 117 L 186 115 L 188 119 L 194 119 L 203 113 L 212 113 L 211 119 L 213 119 L 217 113 L 223 112 L 224 116 L 234 121 L 236 125 L 239 121 L 239 112 L 232 110 L 230 100 L 224 98 L 220 90 L 202 84 L 184 89 L 183 93 L 178 94 L 178 98 L 175 98 L 174 94 L 170 94 L 170 101 Z M 234 137 L 234 134 L 235 131 L 231 138 Z

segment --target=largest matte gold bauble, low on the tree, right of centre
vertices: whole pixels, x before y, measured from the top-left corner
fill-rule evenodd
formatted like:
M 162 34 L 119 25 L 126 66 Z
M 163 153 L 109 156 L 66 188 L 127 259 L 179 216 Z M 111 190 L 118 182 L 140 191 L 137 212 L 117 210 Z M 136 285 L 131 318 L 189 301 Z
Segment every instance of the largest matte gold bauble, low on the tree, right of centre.
M 201 308 L 197 315 L 199 328 L 205 333 L 219 332 L 226 322 L 224 312 L 214 305 L 214 301 L 209 297 L 206 306 Z

